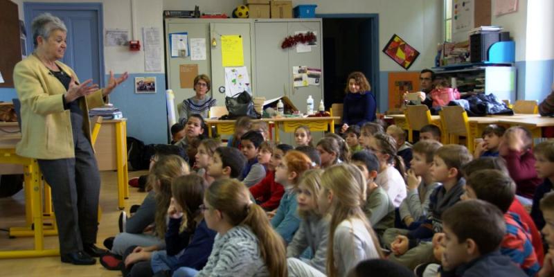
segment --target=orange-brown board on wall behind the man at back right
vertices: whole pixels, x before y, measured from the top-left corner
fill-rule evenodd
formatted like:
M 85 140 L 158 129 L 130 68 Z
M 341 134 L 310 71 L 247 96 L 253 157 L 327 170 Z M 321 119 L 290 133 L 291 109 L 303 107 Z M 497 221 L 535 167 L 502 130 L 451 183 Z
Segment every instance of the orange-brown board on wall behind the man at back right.
M 388 73 L 388 111 L 400 111 L 404 103 L 404 92 L 420 91 L 420 73 Z

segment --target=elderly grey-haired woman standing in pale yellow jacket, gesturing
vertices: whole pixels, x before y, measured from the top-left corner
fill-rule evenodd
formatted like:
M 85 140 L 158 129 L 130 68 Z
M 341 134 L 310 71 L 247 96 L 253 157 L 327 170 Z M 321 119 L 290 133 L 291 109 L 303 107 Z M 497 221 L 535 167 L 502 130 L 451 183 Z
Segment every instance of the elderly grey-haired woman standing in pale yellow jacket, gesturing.
M 92 80 L 79 83 L 69 66 L 59 62 L 66 50 L 66 26 L 49 13 L 33 19 L 35 51 L 14 69 L 21 101 L 21 141 L 17 154 L 37 159 L 52 199 L 62 262 L 92 265 L 98 249 L 100 175 L 90 142 L 89 108 L 104 104 L 127 79 L 114 78 L 98 89 Z

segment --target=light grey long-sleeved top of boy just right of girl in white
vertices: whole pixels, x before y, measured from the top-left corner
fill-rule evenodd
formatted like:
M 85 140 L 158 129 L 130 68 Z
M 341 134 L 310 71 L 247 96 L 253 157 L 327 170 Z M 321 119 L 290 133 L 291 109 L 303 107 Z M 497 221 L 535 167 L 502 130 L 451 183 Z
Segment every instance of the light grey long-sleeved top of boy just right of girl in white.
M 406 198 L 399 207 L 400 220 L 404 220 L 407 216 L 411 216 L 415 221 L 427 217 L 429 213 L 429 197 L 431 197 L 431 193 L 433 193 L 433 190 L 438 185 L 440 183 L 425 185 L 421 181 L 417 190 L 408 190 Z

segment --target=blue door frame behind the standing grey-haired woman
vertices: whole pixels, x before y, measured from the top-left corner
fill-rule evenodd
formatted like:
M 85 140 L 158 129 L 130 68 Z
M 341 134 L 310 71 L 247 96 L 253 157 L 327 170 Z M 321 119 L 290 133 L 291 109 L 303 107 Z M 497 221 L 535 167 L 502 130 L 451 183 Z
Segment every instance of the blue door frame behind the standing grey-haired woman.
M 102 3 L 37 3 L 37 2 L 24 2 L 24 15 L 25 15 L 25 28 L 28 34 L 27 39 L 27 53 L 33 53 L 33 33 L 31 31 L 31 22 L 33 21 L 33 10 L 91 10 L 96 11 L 98 15 L 98 84 L 100 87 L 104 87 L 105 83 L 105 67 L 104 67 L 104 18 Z

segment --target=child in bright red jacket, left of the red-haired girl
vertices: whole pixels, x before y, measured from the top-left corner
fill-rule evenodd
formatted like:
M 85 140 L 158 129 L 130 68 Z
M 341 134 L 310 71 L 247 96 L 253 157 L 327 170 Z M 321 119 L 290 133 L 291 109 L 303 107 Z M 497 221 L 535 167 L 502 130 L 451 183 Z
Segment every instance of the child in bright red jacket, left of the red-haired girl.
M 275 168 L 281 162 L 281 159 L 292 150 L 292 146 L 288 144 L 279 144 L 274 148 L 267 148 L 266 143 L 260 145 L 260 153 L 271 151 L 271 159 L 267 163 L 267 175 L 258 184 L 249 188 L 250 193 L 256 199 L 256 202 L 265 209 L 265 211 L 273 211 L 279 206 L 281 197 L 285 193 L 283 185 L 275 181 Z M 260 159 L 258 158 L 258 161 Z M 261 161 L 260 161 L 261 162 Z

